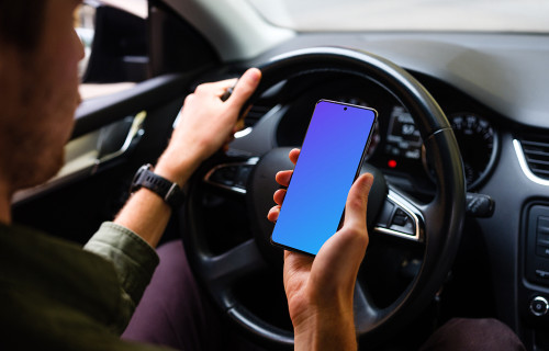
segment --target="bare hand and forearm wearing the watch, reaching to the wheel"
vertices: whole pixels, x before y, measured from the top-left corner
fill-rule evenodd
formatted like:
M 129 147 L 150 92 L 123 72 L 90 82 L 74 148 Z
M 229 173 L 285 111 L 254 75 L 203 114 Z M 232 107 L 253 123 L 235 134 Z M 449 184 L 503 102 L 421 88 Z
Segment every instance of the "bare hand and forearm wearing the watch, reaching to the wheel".
M 258 69 L 248 69 L 225 102 L 220 97 L 235 80 L 201 84 L 189 94 L 171 141 L 154 172 L 180 186 L 187 183 L 199 165 L 231 139 L 243 104 L 254 93 L 260 77 Z M 163 199 L 141 189 L 130 197 L 114 223 L 132 229 L 156 247 L 170 215 L 171 208 Z

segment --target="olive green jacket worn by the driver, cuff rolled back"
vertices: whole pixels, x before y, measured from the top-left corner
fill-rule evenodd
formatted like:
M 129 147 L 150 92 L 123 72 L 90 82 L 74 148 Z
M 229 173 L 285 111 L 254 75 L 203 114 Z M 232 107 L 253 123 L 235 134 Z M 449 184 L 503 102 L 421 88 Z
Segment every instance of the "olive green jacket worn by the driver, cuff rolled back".
M 119 338 L 158 256 L 104 223 L 81 247 L 0 224 L 0 350 L 159 350 Z

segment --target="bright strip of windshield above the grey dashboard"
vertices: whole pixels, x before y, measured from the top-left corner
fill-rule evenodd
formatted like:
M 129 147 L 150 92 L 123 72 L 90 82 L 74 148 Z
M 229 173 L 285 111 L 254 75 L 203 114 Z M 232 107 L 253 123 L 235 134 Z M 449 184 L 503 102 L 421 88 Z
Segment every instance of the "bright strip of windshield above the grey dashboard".
M 296 31 L 549 32 L 548 0 L 248 0 Z

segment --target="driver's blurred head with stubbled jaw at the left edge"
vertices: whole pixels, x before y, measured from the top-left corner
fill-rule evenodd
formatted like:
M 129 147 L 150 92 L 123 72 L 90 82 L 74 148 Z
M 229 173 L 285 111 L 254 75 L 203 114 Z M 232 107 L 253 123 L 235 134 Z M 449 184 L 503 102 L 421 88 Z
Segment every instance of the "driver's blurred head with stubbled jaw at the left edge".
M 46 181 L 63 165 L 79 103 L 79 3 L 0 0 L 0 182 L 10 195 Z

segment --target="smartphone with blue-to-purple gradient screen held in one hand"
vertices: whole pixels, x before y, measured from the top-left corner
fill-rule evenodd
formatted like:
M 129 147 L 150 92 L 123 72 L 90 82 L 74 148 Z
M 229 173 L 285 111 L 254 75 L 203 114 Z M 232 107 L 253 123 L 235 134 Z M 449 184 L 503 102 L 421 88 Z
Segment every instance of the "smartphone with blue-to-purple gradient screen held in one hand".
M 321 100 L 303 140 L 271 244 L 316 256 L 339 226 L 377 123 L 373 109 Z

